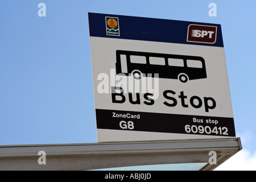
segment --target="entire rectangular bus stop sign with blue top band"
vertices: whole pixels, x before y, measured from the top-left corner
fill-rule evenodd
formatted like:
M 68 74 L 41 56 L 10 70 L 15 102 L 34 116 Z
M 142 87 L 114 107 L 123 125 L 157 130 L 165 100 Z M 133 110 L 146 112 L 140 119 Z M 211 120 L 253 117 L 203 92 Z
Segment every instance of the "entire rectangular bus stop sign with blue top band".
M 98 142 L 236 137 L 220 24 L 88 16 Z

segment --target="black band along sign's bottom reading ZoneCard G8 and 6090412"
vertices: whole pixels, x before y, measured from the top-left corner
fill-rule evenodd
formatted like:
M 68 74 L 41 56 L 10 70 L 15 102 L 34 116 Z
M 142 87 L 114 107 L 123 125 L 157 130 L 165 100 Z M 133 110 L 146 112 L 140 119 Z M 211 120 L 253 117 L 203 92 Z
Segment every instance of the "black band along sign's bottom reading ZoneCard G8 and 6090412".
M 234 119 L 96 109 L 97 129 L 236 137 Z

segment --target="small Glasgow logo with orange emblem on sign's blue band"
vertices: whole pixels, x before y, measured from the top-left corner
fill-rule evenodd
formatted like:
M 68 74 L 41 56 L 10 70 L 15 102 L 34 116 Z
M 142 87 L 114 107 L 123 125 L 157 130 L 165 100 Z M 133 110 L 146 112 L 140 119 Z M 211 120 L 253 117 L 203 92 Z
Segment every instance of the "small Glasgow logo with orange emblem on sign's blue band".
M 120 36 L 118 18 L 106 16 L 106 34 Z

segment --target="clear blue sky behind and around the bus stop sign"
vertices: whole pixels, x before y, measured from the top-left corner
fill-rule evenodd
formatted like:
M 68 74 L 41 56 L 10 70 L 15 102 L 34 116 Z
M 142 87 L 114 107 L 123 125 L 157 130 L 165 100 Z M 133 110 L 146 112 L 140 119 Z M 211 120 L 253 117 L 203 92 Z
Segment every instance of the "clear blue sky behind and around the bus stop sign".
M 40 2 L 46 17 L 38 16 Z M 216 17 L 208 15 L 212 2 Z M 221 24 L 236 134 L 253 156 L 255 6 L 250 0 L 1 0 L 0 144 L 97 142 L 91 12 Z

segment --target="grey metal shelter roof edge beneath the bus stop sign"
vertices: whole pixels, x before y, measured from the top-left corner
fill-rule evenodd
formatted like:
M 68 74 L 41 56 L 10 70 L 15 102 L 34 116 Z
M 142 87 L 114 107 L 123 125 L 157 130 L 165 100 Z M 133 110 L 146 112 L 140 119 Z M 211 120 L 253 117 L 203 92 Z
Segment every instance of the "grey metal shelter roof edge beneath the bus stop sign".
M 90 170 L 152 164 L 206 163 L 213 170 L 242 149 L 240 138 L 0 146 L 0 170 Z M 38 164 L 39 151 L 46 164 Z M 216 151 L 217 164 L 209 164 Z

